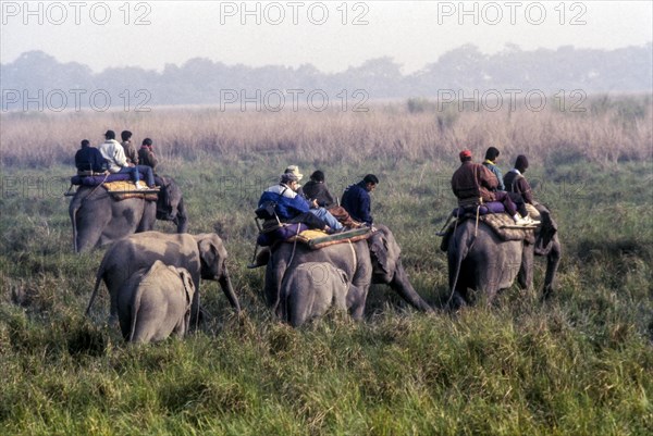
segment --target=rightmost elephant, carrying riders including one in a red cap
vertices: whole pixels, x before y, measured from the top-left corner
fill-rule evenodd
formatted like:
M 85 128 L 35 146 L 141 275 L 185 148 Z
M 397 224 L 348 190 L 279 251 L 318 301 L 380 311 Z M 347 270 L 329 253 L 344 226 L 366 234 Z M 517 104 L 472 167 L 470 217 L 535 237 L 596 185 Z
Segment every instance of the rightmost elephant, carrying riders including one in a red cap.
M 534 244 L 503 240 L 489 226 L 475 220 L 458 223 L 446 244 L 448 261 L 449 309 L 472 302 L 468 288 L 482 291 L 491 303 L 496 294 L 510 287 L 517 278 L 525 289 L 533 286 L 534 256 L 546 257 L 543 297 L 552 295 L 562 257 L 557 224 L 549 209 L 539 204 L 542 224 L 535 231 Z M 475 236 L 476 235 L 476 236 Z

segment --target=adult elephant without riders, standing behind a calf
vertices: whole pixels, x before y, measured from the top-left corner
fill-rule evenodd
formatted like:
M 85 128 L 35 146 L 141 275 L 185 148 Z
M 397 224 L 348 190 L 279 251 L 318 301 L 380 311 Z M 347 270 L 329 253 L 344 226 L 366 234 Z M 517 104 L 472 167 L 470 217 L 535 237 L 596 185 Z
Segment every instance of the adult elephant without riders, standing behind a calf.
M 116 315 L 118 295 L 130 276 L 140 269 L 149 269 L 157 261 L 184 267 L 190 273 L 195 286 L 192 321 L 199 314 L 199 279 L 218 281 L 231 306 L 241 313 L 241 304 L 226 270 L 226 249 L 220 236 L 213 233 L 199 235 L 143 232 L 130 235 L 113 244 L 104 253 L 96 275 L 96 284 L 86 308 L 90 307 L 104 281 L 111 296 L 111 319 Z

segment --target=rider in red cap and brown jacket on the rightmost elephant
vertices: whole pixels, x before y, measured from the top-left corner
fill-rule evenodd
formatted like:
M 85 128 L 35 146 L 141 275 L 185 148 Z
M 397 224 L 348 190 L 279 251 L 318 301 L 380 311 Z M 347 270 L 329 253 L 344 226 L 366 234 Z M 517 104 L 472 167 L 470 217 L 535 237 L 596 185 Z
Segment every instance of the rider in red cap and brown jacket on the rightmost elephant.
M 460 167 L 452 176 L 452 190 L 459 201 L 479 198 L 484 202 L 500 201 L 515 224 L 532 224 L 528 216 L 519 216 L 515 203 L 506 191 L 496 190 L 498 180 L 494 174 L 482 164 L 471 162 L 471 151 L 460 151 L 459 158 Z

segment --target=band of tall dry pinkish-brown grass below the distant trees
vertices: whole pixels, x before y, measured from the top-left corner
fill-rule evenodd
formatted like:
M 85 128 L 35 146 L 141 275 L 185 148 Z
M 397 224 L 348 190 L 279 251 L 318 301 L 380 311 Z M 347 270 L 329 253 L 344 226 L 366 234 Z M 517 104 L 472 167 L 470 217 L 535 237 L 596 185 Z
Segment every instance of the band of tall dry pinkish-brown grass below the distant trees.
M 410 103 L 410 101 L 409 101 Z M 71 163 L 83 138 L 99 144 L 111 128 L 155 140 L 163 160 L 207 155 L 238 160 L 280 153 L 295 160 L 360 163 L 370 157 L 432 161 L 455 159 L 461 148 L 478 154 L 498 147 L 505 159 L 533 162 L 583 159 L 601 164 L 651 159 L 649 97 L 588 100 L 586 112 L 518 108 L 510 112 L 435 105 L 415 111 L 405 102 L 370 104 L 368 112 L 219 111 L 152 108 L 150 112 L 2 113 L 2 165 Z

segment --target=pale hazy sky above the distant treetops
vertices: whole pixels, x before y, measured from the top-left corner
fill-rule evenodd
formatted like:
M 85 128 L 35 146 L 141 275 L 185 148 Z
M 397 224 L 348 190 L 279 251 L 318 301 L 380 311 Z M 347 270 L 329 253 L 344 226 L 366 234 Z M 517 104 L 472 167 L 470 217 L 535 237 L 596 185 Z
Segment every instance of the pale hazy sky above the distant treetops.
M 95 72 L 192 58 L 323 72 L 390 57 L 405 73 L 473 43 L 493 53 L 653 40 L 653 1 L 0 1 L 0 62 L 42 50 Z M 25 4 L 27 7 L 25 7 Z

